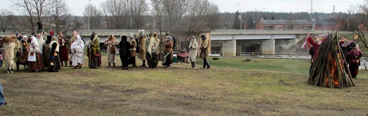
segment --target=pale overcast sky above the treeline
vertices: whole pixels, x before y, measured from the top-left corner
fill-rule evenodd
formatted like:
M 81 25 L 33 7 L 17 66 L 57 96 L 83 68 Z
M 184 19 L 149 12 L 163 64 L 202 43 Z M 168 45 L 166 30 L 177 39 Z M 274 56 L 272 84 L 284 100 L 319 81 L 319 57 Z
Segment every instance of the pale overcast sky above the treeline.
M 90 4 L 100 5 L 106 0 L 91 0 Z M 240 8 L 242 12 L 245 11 L 262 11 L 265 12 L 310 12 L 311 0 L 212 0 L 219 5 L 221 12 L 236 12 Z M 333 12 L 333 5 L 335 5 L 335 12 L 347 12 L 349 5 L 362 3 L 363 0 L 314 0 L 314 12 Z M 88 0 L 66 0 L 68 7 L 73 15 L 82 16 L 83 10 L 88 5 Z M 13 3 L 10 0 L 1 0 L 1 8 L 11 10 L 15 15 L 19 15 L 20 11 L 10 7 Z M 9 7 L 5 7 L 9 6 Z M 0 9 L 1 9 L 0 8 Z

